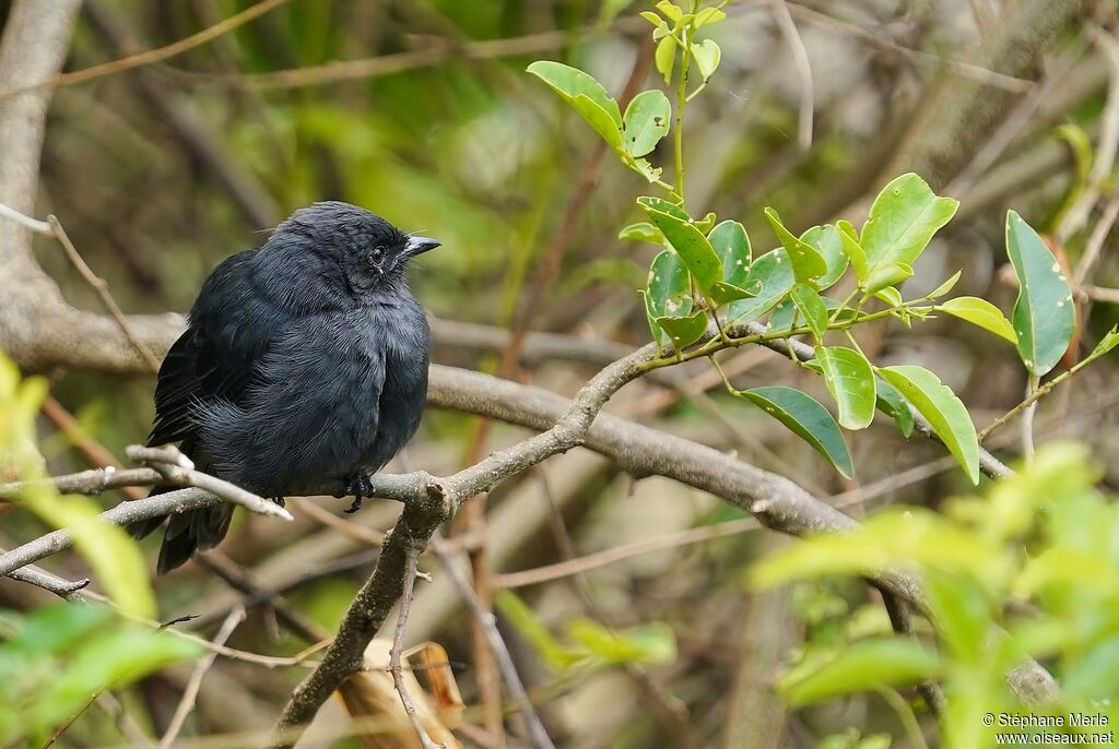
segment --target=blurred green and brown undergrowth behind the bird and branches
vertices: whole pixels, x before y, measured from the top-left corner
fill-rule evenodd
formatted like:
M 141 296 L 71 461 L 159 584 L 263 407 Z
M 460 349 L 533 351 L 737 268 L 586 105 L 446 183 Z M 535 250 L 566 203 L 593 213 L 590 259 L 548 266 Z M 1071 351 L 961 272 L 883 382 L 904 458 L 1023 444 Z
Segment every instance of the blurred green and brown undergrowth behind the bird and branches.
M 0 18 L 7 4 L 0 1 Z M 176 41 L 250 4 L 90 0 L 67 69 Z M 1085 189 L 1085 163 L 1109 148 L 1113 154 L 1113 2 L 786 4 L 811 68 L 811 145 L 797 142 L 802 80 L 774 4 L 733 2 L 730 18 L 711 34 L 723 49 L 720 75 L 688 110 L 689 205 L 741 220 L 752 237 L 770 236 L 762 207 L 772 206 L 799 233 L 837 217 L 855 220 L 882 184 L 913 169 L 961 207 L 922 256 L 906 296 L 965 268 L 957 294 L 1008 311 L 1016 290 L 1007 283 L 1003 226 L 1012 207 L 1046 233 L 1070 265 L 1078 262 L 1099 211 L 1070 227 L 1062 207 Z M 56 91 L 39 214 L 59 217 L 125 311 L 185 312 L 217 263 L 258 243 L 260 233 L 291 210 L 348 200 L 443 241 L 413 274 L 417 296 L 438 317 L 501 329 L 527 324 L 581 336 L 589 348 L 599 340 L 645 343 L 634 287 L 656 248 L 619 241 L 617 233 L 642 218 L 633 199 L 646 186 L 602 159 L 594 133 L 524 68 L 539 58 L 563 60 L 591 72 L 614 96 L 631 78 L 656 85 L 648 25 L 636 18 L 647 9 L 620 0 L 290 0 L 164 63 Z M 667 150 L 652 155 L 667 162 Z M 1108 164 L 1107 179 L 1094 186 L 1104 203 L 1113 196 L 1112 174 Z M 36 249 L 73 303 L 97 307 L 54 244 L 37 240 Z M 534 288 L 549 257 L 561 258 L 558 273 Z M 916 279 L 929 287 L 918 288 Z M 1085 284 L 1119 286 L 1112 236 Z M 1078 306 L 1083 343 L 1074 353 L 1082 354 L 1119 322 L 1119 312 L 1096 297 L 1082 296 Z M 913 331 L 869 326 L 861 344 L 880 364 L 934 369 L 980 426 L 1017 404 L 1026 385 L 1010 344 L 951 320 Z M 441 338 L 435 351 L 436 361 L 489 371 L 499 355 L 500 348 L 455 335 Z M 507 373 L 570 395 L 594 369 L 534 360 Z M 822 391 L 771 352 L 743 350 L 727 369 L 739 387 Z M 856 515 L 897 501 L 937 509 L 967 485 L 939 446 L 906 442 L 881 418 L 849 438 L 859 473 L 847 482 L 779 425 L 721 395 L 709 367 L 679 371 L 679 380 L 627 388 L 609 410 L 735 451 Z M 1098 362 L 1046 398 L 1035 423 L 1040 442 L 1087 443 L 1111 487 L 1119 481 L 1115 377 L 1113 357 Z M 87 467 L 98 446 L 121 456 L 125 445 L 141 442 L 151 391 L 149 378 L 51 373 L 50 394 L 77 427 L 63 437 L 57 411 L 39 419 L 49 472 Z M 1013 457 L 1019 449 L 1013 433 L 988 446 Z M 472 418 L 431 411 L 407 464 L 453 471 L 477 434 Z M 520 436 L 495 428 L 483 447 Z M 119 499 L 97 501 L 111 506 Z M 318 504 L 330 513 L 344 508 Z M 232 562 L 248 570 L 253 586 L 283 592 L 300 617 L 293 626 L 291 610 L 265 597 L 251 607 L 232 646 L 291 655 L 309 635 L 332 632 L 375 550 L 323 527 L 303 503 L 294 512 L 298 522 L 284 527 L 238 518 L 213 562 L 159 581 L 160 618 L 197 615 L 178 626 L 211 635 L 245 597 L 228 582 Z M 395 512 L 373 504 L 347 522 L 383 530 Z M 774 674 L 793 648 L 843 643 L 852 632 L 881 631 L 884 622 L 881 605 L 859 585 L 750 588 L 750 565 L 782 543 L 753 528 L 714 497 L 660 478 L 633 482 L 577 451 L 493 492 L 487 528 L 493 581 L 527 604 L 502 607 L 504 632 L 561 746 L 812 747 L 829 736 L 829 747 L 890 746 L 890 737 L 893 746 L 913 746 L 896 705 L 882 695 L 790 710 L 773 694 Z M 0 544 L 10 548 L 45 529 L 34 516 L 11 513 Z M 143 544 L 149 558 L 153 543 Z M 546 567 L 609 550 L 585 563 Z M 70 579 L 86 571 L 79 557 L 44 566 Z M 226 575 L 216 575 L 218 568 Z M 536 573 L 516 573 L 525 570 Z M 0 581 L 4 608 L 29 610 L 48 600 L 29 586 Z M 573 619 L 591 622 L 582 638 L 572 633 Z M 455 594 L 436 581 L 421 588 L 410 627 L 414 638 L 448 646 L 467 703 L 474 704 L 468 620 Z M 15 632 L 19 625 L 4 626 Z M 592 669 L 558 667 L 556 658 L 593 651 L 587 643 L 601 642 L 596 626 L 623 633 L 631 647 L 604 647 Z M 549 658 L 545 643 L 561 655 Z M 185 734 L 267 728 L 302 675 L 300 667 L 218 660 Z M 145 730 L 159 732 L 188 676 L 188 666 L 166 669 L 119 696 Z M 88 711 L 58 746 L 121 745 L 107 714 Z M 323 718 L 337 719 L 337 712 Z M 468 712 L 468 721 L 481 719 Z M 852 726 L 863 737 L 885 734 L 885 743 L 833 736 Z

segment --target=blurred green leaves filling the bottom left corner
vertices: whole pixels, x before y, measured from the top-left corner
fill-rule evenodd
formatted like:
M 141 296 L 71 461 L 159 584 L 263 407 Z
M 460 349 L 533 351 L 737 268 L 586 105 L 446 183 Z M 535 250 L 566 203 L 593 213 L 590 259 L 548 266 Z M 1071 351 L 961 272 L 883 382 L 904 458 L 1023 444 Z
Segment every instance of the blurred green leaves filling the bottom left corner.
M 123 686 L 201 648 L 123 619 L 111 608 L 60 604 L 6 614 L 0 642 L 0 743 L 41 746 L 101 691 Z M 23 746 L 23 745 L 19 745 Z

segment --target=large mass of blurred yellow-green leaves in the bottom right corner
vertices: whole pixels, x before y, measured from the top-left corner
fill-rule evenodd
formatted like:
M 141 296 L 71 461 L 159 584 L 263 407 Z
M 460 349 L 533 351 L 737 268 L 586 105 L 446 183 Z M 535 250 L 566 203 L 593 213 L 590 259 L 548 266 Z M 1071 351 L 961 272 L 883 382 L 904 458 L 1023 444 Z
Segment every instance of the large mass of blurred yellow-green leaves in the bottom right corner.
M 1051 444 L 986 496 L 952 500 L 943 515 L 893 508 L 756 565 L 752 579 L 762 586 L 906 570 L 923 582 L 937 627 L 934 647 L 880 635 L 809 647 L 782 679 L 784 696 L 805 704 L 934 676 L 948 698 L 944 746 L 961 748 L 996 746 L 1006 728 L 988 728 L 988 712 L 1101 715 L 1113 726 L 1119 504 L 1096 489 L 1099 475 L 1083 447 Z M 1027 705 L 1009 690 L 1004 674 L 1025 656 L 1051 667 L 1059 702 Z

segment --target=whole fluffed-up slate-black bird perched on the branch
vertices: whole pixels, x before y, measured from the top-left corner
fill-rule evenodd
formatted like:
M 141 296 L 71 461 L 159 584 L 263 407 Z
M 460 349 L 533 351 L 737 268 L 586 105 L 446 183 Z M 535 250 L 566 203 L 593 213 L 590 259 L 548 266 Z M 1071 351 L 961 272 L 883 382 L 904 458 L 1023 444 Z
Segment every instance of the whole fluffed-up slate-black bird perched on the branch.
M 356 510 L 420 424 L 431 342 L 405 271 L 435 247 L 345 202 L 292 214 L 203 284 L 160 367 L 148 444 L 180 443 L 199 470 L 279 502 L 337 485 Z M 232 516 L 226 503 L 171 515 L 159 572 L 216 546 Z

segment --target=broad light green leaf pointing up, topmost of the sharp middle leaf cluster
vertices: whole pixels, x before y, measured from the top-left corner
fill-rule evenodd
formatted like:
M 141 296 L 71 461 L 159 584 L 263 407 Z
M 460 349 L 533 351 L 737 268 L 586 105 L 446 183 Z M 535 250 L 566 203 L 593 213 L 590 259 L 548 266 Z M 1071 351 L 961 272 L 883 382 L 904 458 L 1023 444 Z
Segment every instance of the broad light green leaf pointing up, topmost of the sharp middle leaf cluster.
M 869 273 L 894 263 L 912 266 L 958 206 L 957 200 L 937 197 L 912 172 L 884 187 L 871 206 L 859 243 L 866 252 Z

